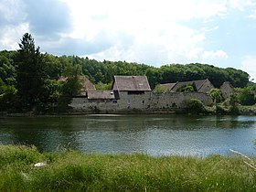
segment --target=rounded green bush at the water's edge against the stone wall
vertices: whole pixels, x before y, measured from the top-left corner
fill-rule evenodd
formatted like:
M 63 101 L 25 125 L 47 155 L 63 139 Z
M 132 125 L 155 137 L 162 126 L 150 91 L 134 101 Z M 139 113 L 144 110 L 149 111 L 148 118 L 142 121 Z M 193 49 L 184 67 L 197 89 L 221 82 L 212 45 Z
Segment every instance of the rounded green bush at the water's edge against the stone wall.
M 189 99 L 185 100 L 185 108 L 187 112 L 193 112 L 193 113 L 204 113 L 206 112 L 205 105 L 202 101 L 199 101 L 197 99 Z

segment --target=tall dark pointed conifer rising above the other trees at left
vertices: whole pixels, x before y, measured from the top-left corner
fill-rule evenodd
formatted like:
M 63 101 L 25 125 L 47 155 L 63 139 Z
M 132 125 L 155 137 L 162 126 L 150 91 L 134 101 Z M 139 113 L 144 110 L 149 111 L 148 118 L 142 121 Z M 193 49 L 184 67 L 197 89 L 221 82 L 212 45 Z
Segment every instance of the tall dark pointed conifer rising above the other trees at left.
M 19 44 L 17 63 L 17 91 L 23 107 L 30 110 L 40 102 L 47 78 L 39 47 L 26 33 Z

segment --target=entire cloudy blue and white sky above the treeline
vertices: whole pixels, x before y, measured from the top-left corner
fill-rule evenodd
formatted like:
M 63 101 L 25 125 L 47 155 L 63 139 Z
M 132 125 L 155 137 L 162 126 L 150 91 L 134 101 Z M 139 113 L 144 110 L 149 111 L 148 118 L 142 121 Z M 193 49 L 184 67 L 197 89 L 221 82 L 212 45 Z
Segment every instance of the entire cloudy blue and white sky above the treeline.
M 204 63 L 256 80 L 255 0 L 0 0 L 0 50 L 160 67 Z

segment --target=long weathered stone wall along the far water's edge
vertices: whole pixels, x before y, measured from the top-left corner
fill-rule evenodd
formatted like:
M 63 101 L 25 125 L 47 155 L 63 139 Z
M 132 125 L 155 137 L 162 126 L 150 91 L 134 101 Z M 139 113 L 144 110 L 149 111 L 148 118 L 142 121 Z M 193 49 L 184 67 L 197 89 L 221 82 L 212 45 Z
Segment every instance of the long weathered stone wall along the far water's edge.
M 182 109 L 183 101 L 187 99 L 203 101 L 205 105 L 212 105 L 213 101 L 206 93 L 200 92 L 168 92 L 155 94 L 145 91 L 144 94 L 128 94 L 120 92 L 120 100 L 88 100 L 85 97 L 73 98 L 71 106 L 74 112 L 111 113 L 133 111 L 169 111 Z

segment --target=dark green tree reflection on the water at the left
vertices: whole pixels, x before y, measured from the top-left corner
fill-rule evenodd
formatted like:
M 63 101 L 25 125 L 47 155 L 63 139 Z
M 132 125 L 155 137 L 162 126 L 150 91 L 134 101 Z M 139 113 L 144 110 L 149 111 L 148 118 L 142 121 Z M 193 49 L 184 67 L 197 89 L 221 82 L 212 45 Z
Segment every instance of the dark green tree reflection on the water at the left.
M 65 131 L 69 121 L 62 118 L 15 118 L 9 119 L 8 129 L 12 130 L 11 143 L 33 144 L 40 151 L 56 151 L 61 146 L 72 143 L 75 147 L 75 137 L 72 132 Z

